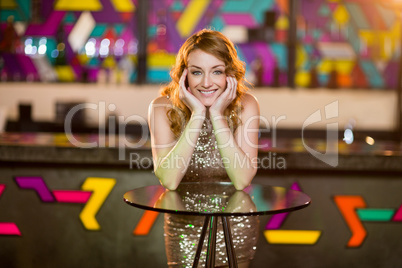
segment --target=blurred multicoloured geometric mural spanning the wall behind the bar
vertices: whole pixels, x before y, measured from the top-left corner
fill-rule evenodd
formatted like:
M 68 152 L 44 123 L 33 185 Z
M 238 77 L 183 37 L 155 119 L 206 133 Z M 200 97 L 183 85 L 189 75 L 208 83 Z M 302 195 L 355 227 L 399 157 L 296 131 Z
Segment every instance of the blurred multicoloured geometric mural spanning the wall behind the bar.
M 4 1 L 3 1 L 4 2 Z M 295 84 L 298 87 L 373 88 L 393 89 L 397 85 L 398 59 L 400 56 L 401 20 L 396 9 L 387 9 L 377 0 L 309 0 L 299 1 L 297 14 L 297 48 Z M 383 1 L 384 2 L 384 1 Z M 2 2 L 1 2 L 2 3 Z M 7 4 L 12 3 L 12 4 Z M 31 23 L 30 1 L 9 1 L 2 8 L 1 25 L 4 28 L 8 16 L 27 25 L 26 32 L 19 32 L 19 51 L 24 51 L 24 41 L 33 38 L 39 47 L 41 37 L 46 37 L 48 50 L 43 64 L 33 63 L 24 53 L 2 56 L 5 67 L 2 75 L 12 79 L 28 78 L 34 81 L 57 79 L 59 81 L 87 80 L 96 82 L 107 73 L 124 69 L 130 82 L 136 79 L 134 67 L 137 61 L 135 19 L 137 0 L 90 0 L 54 1 L 53 7 L 40 6 L 43 23 Z M 289 8 L 286 0 L 149 0 L 147 56 L 164 54 L 169 64 L 148 63 L 147 80 L 161 83 L 170 80 L 169 69 L 174 56 L 184 40 L 202 28 L 225 32 L 229 27 L 240 27 L 247 31 L 261 27 L 267 11 L 275 13 L 274 37 L 270 42 L 245 41 L 236 44 L 241 60 L 246 63 L 251 80 L 253 66 L 257 61 L 262 66 L 259 80 L 263 86 L 287 86 L 287 40 L 289 30 Z M 66 40 L 83 12 L 90 13 L 95 28 L 87 37 L 95 40 L 99 52 L 100 43 L 110 40 L 111 51 L 116 42 L 119 52 L 106 58 L 87 57 L 85 48 L 72 49 Z M 54 68 L 55 51 L 62 29 L 66 45 L 66 65 L 58 69 L 57 77 L 46 78 L 38 66 Z M 62 38 L 63 39 L 63 38 Z M 86 38 L 85 38 L 86 39 Z M 83 44 L 82 40 L 80 44 Z M 342 49 L 326 53 L 319 44 L 342 44 L 353 52 L 346 58 L 337 57 Z M 85 59 L 87 57 L 87 59 Z M 113 62 L 114 64 L 106 64 Z M 43 67 L 42 67 L 43 68 Z M 55 70 L 52 70 L 53 73 Z M 109 72 L 110 71 L 110 72 Z M 111 76 L 111 77 L 119 77 Z M 126 79 L 125 78 L 125 79 Z M 52 80 L 53 81 L 53 80 Z

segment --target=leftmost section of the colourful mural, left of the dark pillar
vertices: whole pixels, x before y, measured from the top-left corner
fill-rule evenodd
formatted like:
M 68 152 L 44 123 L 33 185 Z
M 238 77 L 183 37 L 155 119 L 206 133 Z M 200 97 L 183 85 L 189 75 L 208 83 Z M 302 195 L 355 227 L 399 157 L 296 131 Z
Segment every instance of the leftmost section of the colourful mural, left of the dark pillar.
M 122 79 L 124 82 L 133 82 L 136 77 L 134 65 L 138 44 L 135 18 L 137 0 L 56 0 L 52 7 L 41 4 L 37 6 L 44 18 L 42 23 L 32 22 L 31 1 L 28 1 L 28 4 L 25 2 L 15 1 L 14 5 L 9 5 L 7 10 L 2 9 L 1 12 L 1 31 L 5 28 L 9 16 L 14 17 L 15 23 L 22 22 L 26 25 L 24 29 L 18 28 L 18 42 L 15 42 L 17 44 L 15 50 L 19 52 L 0 53 L 5 61 L 5 68 L 2 69 L 1 75 L 10 80 L 97 82 L 102 77 L 102 70 L 106 70 L 110 77 L 117 77 L 114 74 L 120 74 L 120 70 L 125 68 Z M 28 13 L 22 16 L 22 11 Z M 92 32 L 85 34 L 85 37 L 81 37 L 84 40 L 79 40 L 81 44 L 79 49 L 76 47 L 73 49 L 68 42 L 69 35 L 83 13 L 88 13 L 94 20 L 95 28 Z M 38 56 L 43 38 L 47 40 L 45 42 L 47 49 L 42 52 L 44 57 L 40 57 L 39 61 L 35 59 L 35 56 Z M 90 40 L 95 44 L 96 53 L 87 57 L 85 44 Z M 99 54 L 103 40 L 110 41 L 110 53 L 106 56 Z M 26 41 L 29 41 L 37 51 L 35 55 L 24 53 Z M 57 61 L 60 44 L 63 45 L 65 52 L 63 54 L 65 59 L 61 63 Z M 115 64 L 112 67 L 105 66 L 103 64 L 105 60 Z M 47 70 L 45 67 L 50 68 L 52 73 L 57 75 L 39 75 Z

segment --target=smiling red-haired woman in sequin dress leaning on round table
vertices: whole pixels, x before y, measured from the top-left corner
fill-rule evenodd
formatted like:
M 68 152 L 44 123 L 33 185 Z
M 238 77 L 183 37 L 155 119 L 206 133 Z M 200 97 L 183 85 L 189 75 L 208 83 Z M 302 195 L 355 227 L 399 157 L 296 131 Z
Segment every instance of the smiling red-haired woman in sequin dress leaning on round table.
M 247 93 L 244 63 L 232 42 L 217 31 L 195 33 L 170 75 L 149 109 L 155 175 L 169 190 L 181 182 L 231 182 L 243 190 L 257 171 L 259 104 Z M 171 267 L 191 267 L 202 223 L 198 216 L 165 214 Z M 231 219 L 239 266 L 253 257 L 257 224 L 255 217 Z M 221 227 L 216 264 L 227 265 Z

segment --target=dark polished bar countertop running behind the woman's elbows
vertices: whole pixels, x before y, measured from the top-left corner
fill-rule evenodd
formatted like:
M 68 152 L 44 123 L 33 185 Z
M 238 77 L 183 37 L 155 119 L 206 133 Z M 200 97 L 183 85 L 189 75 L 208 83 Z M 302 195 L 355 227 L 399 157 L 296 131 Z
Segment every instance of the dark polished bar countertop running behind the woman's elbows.
M 304 139 L 304 143 L 302 139 L 276 139 L 273 144 L 272 139 L 262 138 L 259 147 L 261 172 L 264 169 L 402 172 L 402 147 L 395 141 L 377 141 L 373 145 L 363 140 L 352 144 L 338 141 L 326 146 L 325 140 L 320 139 Z M 337 160 L 325 163 L 309 153 L 307 147 L 321 155 L 333 155 Z M 150 141 L 138 136 L 3 133 L 0 161 L 152 169 Z

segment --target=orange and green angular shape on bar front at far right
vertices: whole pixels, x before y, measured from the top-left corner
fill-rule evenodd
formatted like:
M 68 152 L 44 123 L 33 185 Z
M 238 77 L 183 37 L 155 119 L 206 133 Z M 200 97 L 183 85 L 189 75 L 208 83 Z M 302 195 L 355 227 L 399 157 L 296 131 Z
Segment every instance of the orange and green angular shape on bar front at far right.
M 402 205 L 396 209 L 371 209 L 366 208 L 366 202 L 358 195 L 338 195 L 334 197 L 352 236 L 347 246 L 359 247 L 367 236 L 367 231 L 362 222 L 399 222 L 402 221 Z

